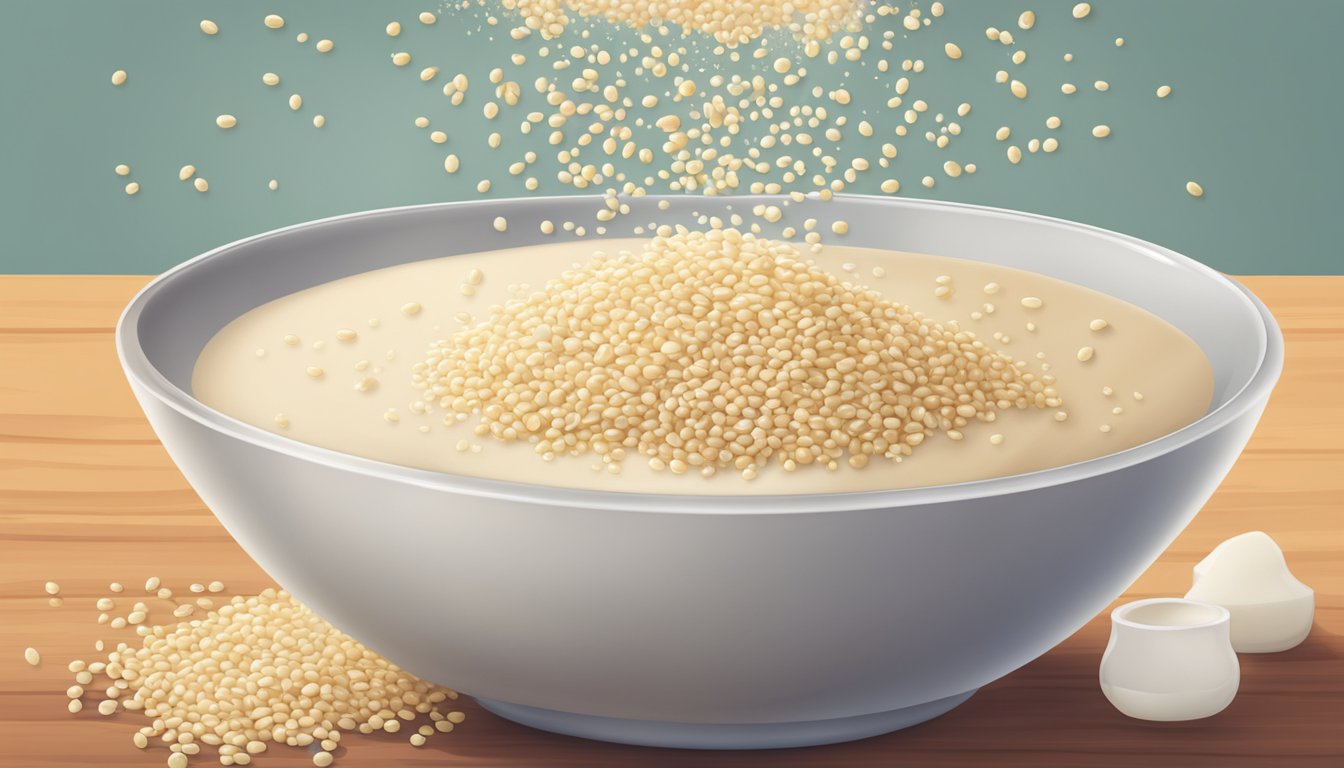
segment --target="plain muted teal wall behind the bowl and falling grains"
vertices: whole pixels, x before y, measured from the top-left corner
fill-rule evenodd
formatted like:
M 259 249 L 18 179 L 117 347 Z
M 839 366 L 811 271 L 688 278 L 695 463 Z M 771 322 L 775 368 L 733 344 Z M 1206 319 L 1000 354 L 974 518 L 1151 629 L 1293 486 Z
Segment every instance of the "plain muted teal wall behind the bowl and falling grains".
M 488 27 L 482 13 L 445 15 L 434 27 L 421 26 L 418 12 L 437 4 L 0 1 L 0 273 L 159 272 L 288 223 L 477 198 L 482 176 L 495 178 L 493 196 L 524 194 L 504 171 L 521 152 L 519 118 L 496 121 L 508 152 L 485 149 L 481 86 L 509 52 L 539 43 L 516 48 L 508 23 Z M 874 65 L 882 51 L 875 50 L 866 55 L 868 69 L 849 78 L 863 82 L 851 85 L 852 114 L 871 116 L 891 95 L 899 61 L 922 56 L 929 71 L 917 87 L 931 112 L 952 116 L 962 100 L 974 105 L 960 120 L 964 135 L 952 156 L 977 163 L 980 172 L 946 179 L 937 168 L 948 153 L 907 139 L 898 143 L 891 174 L 900 179 L 902 195 L 1085 221 L 1231 273 L 1344 273 L 1337 237 L 1344 1 L 1097 0 L 1086 23 L 1070 17 L 1073 0 L 945 5 L 931 31 L 909 39 L 898 19 L 879 19 L 870 32 L 875 40 L 888 26 L 900 32 L 887 54 L 898 66 L 879 75 Z M 1017 34 L 1017 47 L 1030 58 L 1015 67 L 1008 62 L 1015 48 L 988 42 L 984 28 L 1016 32 L 1024 8 L 1035 9 L 1039 22 L 1032 32 Z M 261 24 L 270 12 L 285 16 L 282 31 Z M 203 17 L 219 23 L 218 36 L 200 34 Z M 398 40 L 383 34 L 392 19 L 405 27 Z M 591 28 L 629 36 L 601 24 Z M 294 42 L 300 31 L 312 36 L 308 44 Z M 1125 47 L 1113 44 L 1116 36 L 1126 39 Z M 314 52 L 320 38 L 333 39 L 336 50 Z M 942 55 L 945 40 L 961 44 L 961 62 Z M 413 52 L 410 67 L 391 66 L 388 55 L 396 50 Z M 1066 51 L 1073 63 L 1063 62 Z M 707 67 L 746 74 L 773 58 L 741 65 L 711 58 Z M 524 71 L 511 73 L 524 83 L 519 116 L 538 104 L 532 78 L 550 71 L 548 63 L 531 59 Z M 429 65 L 442 74 L 421 83 L 415 73 Z M 117 69 L 130 74 L 121 87 L 109 82 Z M 825 69 L 812 65 L 812 79 L 836 77 Z M 1032 85 L 1030 100 L 1017 101 L 996 85 L 996 69 Z M 278 73 L 281 85 L 263 86 L 265 71 Z M 468 106 L 457 113 L 441 94 L 444 74 L 456 71 L 473 82 Z M 1098 78 L 1110 81 L 1109 93 L 1091 89 Z M 1078 95 L 1059 93 L 1066 79 L 1079 85 Z M 1161 83 L 1175 87 L 1164 101 L 1153 95 Z M 667 82 L 656 90 L 664 87 Z M 294 91 L 305 102 L 298 113 L 285 104 Z M 939 93 L 948 100 L 934 98 Z M 215 128 L 219 113 L 238 116 L 238 128 Z M 317 113 L 328 118 L 320 130 L 310 122 Z M 446 130 L 449 144 L 431 144 L 426 130 L 414 128 L 418 114 Z M 1048 114 L 1063 118 L 1060 130 L 1046 130 Z M 1110 124 L 1114 135 L 1091 139 L 1095 122 Z M 1012 167 L 1005 145 L 992 136 L 1001 124 L 1013 128 L 1015 141 L 1054 135 L 1062 147 Z M 535 135 L 542 136 L 544 130 Z M 867 141 L 876 147 L 883 140 L 879 133 Z M 456 176 L 442 169 L 449 151 L 464 159 Z M 129 179 L 113 174 L 117 163 L 132 167 Z M 208 194 L 177 180 L 185 163 L 210 180 Z M 926 174 L 939 179 L 937 188 L 919 186 Z M 271 178 L 281 184 L 276 192 L 266 188 Z M 849 191 L 876 192 L 884 178 L 868 174 Z M 133 198 L 122 192 L 132 179 L 142 187 Z M 1187 179 L 1199 180 L 1206 198 L 1187 196 Z M 573 192 L 554 179 L 554 168 L 540 180 L 536 194 Z

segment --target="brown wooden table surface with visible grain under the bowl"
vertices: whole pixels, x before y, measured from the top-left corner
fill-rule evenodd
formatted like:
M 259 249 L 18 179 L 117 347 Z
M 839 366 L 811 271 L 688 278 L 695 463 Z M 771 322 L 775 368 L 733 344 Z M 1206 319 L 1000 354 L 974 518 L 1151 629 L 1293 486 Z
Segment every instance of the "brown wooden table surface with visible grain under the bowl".
M 134 713 L 66 712 L 65 664 L 95 639 L 109 581 L 149 576 L 183 590 L 222 580 L 255 593 L 266 574 L 168 460 L 126 387 L 113 324 L 145 277 L 0 277 L 0 765 L 163 765 L 130 744 Z M 644 749 L 566 738 L 493 717 L 422 749 L 349 734 L 337 765 L 1344 765 L 1344 277 L 1250 277 L 1288 339 L 1284 379 L 1241 461 L 1195 522 L 1121 600 L 1183 594 L 1227 537 L 1265 530 L 1316 589 L 1316 627 L 1293 651 L 1243 655 L 1241 693 L 1218 717 L 1128 720 L 1097 685 L 1109 619 L 952 713 L 866 741 L 755 753 Z M 43 582 L 58 581 L 59 608 Z M 43 663 L 24 663 L 39 648 Z M 445 681 L 452 683 L 452 681 Z M 198 759 L 200 765 L 214 760 Z M 215 763 L 218 764 L 218 763 Z M 277 749 L 258 765 L 312 765 Z

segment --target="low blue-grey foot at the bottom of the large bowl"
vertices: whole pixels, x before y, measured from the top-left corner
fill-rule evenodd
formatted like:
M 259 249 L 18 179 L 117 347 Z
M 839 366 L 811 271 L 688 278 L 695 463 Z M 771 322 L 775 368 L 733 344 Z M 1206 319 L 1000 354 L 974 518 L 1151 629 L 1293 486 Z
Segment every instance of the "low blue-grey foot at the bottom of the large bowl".
M 918 725 L 943 714 L 970 698 L 974 690 L 914 706 L 805 722 L 706 724 L 625 720 L 540 709 L 477 698 L 476 703 L 505 720 L 540 730 L 634 744 L 637 746 L 671 746 L 676 749 L 780 749 L 817 746 L 880 736 Z

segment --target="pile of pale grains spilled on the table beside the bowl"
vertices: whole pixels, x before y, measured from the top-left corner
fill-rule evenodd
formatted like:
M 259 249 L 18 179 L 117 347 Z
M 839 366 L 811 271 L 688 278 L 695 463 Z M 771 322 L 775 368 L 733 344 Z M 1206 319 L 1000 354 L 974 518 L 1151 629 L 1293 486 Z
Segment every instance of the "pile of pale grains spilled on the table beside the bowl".
M 192 585 L 191 592 L 206 589 Z M 98 603 L 99 609 L 114 608 L 110 597 Z M 277 745 L 306 748 L 323 767 L 351 732 L 409 733 L 413 745 L 423 746 L 465 720 L 446 703 L 456 691 L 402 671 L 288 592 L 238 596 L 200 619 L 164 625 L 145 623 L 146 609 L 134 608 L 138 647 L 118 643 L 101 660 L 70 662 L 70 712 L 91 698 L 103 716 L 140 712 L 149 724 L 132 742 L 165 746 L 172 768 L 207 749 L 220 765 L 249 765 Z M 190 616 L 190 608 L 180 605 L 173 615 Z M 97 647 L 102 650 L 101 640 Z

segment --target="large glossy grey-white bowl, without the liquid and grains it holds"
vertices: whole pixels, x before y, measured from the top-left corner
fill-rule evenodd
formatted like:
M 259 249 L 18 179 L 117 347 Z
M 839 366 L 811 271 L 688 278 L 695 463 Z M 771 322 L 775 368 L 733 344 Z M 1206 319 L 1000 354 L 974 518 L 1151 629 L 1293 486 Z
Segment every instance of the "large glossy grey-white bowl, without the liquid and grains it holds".
M 633 199 L 621 222 L 689 223 L 765 200 L 668 199 L 668 211 Z M 168 270 L 117 328 L 164 447 L 278 584 L 409 671 L 550 730 L 754 748 L 935 717 L 1077 631 L 1157 558 L 1236 460 L 1282 367 L 1265 307 L 1169 250 L 1030 214 L 840 196 L 790 217 L 844 218 L 852 245 L 1030 269 L 1167 319 L 1212 363 L 1208 414 L 1028 475 L 739 498 L 411 469 L 249 426 L 191 395 L 202 347 L 253 307 L 407 261 L 563 239 L 538 222 L 591 222 L 597 206 L 482 200 L 288 227 Z M 500 214 L 507 237 L 491 223 Z

